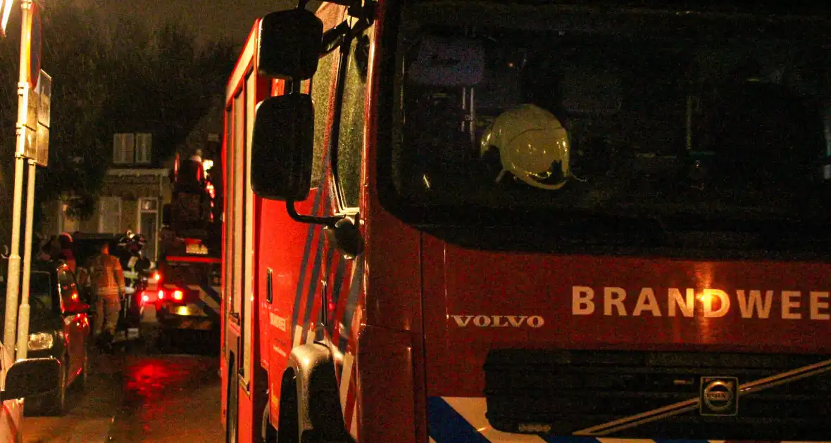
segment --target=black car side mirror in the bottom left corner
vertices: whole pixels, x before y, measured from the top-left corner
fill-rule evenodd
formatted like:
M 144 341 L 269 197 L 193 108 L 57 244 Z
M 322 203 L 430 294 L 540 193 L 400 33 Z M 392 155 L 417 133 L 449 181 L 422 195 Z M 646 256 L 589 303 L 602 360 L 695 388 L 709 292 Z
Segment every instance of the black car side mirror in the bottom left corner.
M 0 400 L 12 400 L 45 394 L 60 380 L 61 363 L 54 358 L 20 360 L 6 372 L 6 389 Z

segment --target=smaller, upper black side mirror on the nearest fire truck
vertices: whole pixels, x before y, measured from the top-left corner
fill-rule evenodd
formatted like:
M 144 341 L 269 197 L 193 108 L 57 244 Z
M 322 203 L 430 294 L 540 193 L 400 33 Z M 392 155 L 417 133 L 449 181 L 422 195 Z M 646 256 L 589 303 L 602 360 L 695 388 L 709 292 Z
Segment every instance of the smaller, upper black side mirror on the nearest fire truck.
M 272 12 L 259 26 L 257 63 L 260 75 L 308 80 L 317 71 L 323 22 L 306 9 Z

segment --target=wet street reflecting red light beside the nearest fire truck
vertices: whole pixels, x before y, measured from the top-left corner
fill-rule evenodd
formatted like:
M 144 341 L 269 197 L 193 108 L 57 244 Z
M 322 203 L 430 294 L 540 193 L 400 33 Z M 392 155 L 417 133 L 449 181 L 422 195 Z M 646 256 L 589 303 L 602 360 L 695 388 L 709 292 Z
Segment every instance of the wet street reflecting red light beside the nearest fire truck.
M 140 343 L 92 353 L 86 392 L 67 394 L 62 417 L 30 416 L 27 405 L 23 441 L 224 441 L 219 344 L 199 335 L 170 344 L 165 353 Z

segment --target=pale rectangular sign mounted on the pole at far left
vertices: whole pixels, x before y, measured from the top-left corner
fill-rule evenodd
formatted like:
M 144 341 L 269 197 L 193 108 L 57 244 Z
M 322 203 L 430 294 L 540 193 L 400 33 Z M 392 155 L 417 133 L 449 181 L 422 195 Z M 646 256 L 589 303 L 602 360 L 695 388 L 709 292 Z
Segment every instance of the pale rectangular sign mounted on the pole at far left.
M 37 87 L 28 90 L 23 155 L 38 166 L 49 165 L 49 125 L 52 113 L 52 76 L 40 71 Z

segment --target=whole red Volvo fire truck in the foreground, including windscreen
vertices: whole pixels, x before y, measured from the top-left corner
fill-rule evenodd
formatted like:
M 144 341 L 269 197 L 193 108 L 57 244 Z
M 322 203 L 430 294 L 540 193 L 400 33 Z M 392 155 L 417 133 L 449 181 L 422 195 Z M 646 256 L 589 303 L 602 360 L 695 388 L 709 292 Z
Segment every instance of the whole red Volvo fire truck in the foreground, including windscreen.
M 831 440 L 828 6 L 565 3 L 255 23 L 228 441 Z

